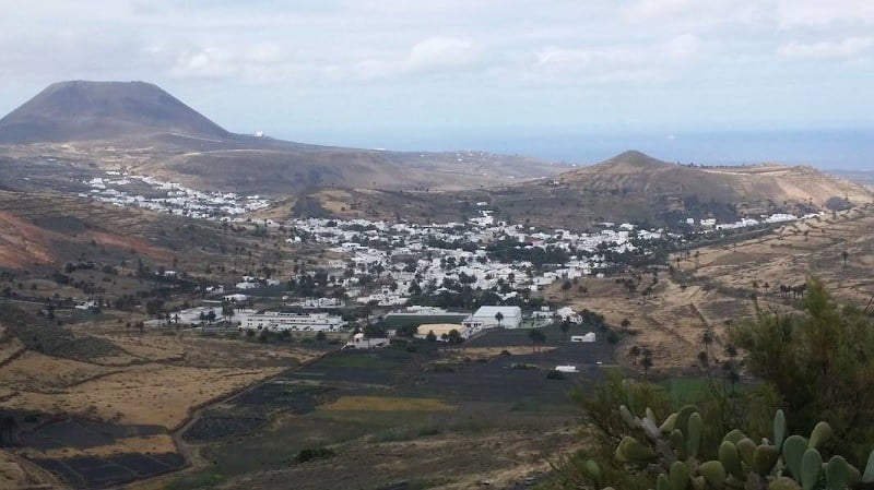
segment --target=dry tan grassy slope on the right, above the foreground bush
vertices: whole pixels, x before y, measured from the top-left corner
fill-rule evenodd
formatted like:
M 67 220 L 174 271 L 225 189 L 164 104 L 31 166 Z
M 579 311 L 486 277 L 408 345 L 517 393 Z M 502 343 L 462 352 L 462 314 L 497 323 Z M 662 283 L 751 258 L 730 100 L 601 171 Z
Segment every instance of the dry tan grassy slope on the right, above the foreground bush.
M 619 360 L 629 364 L 631 345 L 648 347 L 653 352 L 656 374 L 693 369 L 696 356 L 704 350 L 701 336 L 707 328 L 716 334 L 710 348 L 718 359 L 727 344 L 727 322 L 736 322 L 755 314 L 755 306 L 790 310 L 798 302 L 779 291 L 779 285 L 801 285 L 810 275 L 823 278 L 841 300 L 866 303 L 874 296 L 874 206 L 789 224 L 776 232 L 739 242 L 736 246 L 708 247 L 689 258 L 671 258 L 671 264 L 693 278 L 685 285 L 672 280 L 666 272 L 659 275 L 654 295 L 643 298 L 627 294 L 613 279 L 584 279 L 588 294 L 565 298 L 558 285 L 547 295 L 570 303 L 575 309 L 588 308 L 604 314 L 618 325 L 630 321 L 637 335 L 619 347 Z M 849 258 L 842 264 L 842 251 Z M 643 276 L 649 285 L 651 276 Z M 754 283 L 759 287 L 754 288 Z M 763 287 L 768 283 L 769 287 Z M 642 287 L 638 288 L 638 290 Z M 752 296 L 758 296 L 757 301 Z M 631 364 L 634 367 L 634 364 Z

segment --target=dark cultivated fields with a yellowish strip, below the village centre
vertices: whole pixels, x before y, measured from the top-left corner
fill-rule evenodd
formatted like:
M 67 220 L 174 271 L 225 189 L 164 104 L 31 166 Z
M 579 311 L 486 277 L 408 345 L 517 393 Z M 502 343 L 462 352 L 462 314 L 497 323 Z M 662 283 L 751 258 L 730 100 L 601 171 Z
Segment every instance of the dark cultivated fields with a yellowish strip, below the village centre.
M 332 354 L 204 409 L 181 434 L 200 463 L 135 488 L 501 488 L 540 475 L 579 444 L 569 391 L 612 360 L 603 342 L 545 332 L 539 354 L 527 331 Z M 557 362 L 581 372 L 547 379 Z

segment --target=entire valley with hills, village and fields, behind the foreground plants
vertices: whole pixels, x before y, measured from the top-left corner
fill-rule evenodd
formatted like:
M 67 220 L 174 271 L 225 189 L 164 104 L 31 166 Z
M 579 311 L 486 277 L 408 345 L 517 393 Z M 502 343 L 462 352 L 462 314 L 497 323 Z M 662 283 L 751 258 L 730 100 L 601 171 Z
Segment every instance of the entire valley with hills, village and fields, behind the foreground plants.
M 547 485 L 604 380 L 700 396 L 808 277 L 874 295 L 874 193 L 811 167 L 315 146 L 142 83 L 51 86 L 0 142 L 20 489 Z

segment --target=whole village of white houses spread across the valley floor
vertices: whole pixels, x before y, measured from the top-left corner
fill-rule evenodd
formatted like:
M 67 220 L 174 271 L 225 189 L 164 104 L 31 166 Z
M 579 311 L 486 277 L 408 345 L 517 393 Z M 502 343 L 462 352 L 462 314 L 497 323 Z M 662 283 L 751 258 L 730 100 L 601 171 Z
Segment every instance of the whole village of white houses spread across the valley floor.
M 120 171 L 108 171 L 85 183 L 91 191 L 80 194 L 84 198 L 196 219 L 250 222 L 247 213 L 270 205 L 270 200 L 258 195 L 201 192 Z M 240 332 L 346 332 L 356 334 L 350 336 L 347 347 L 370 348 L 385 346 L 388 339 L 383 337 L 399 327 L 415 328 L 409 333 L 420 338 L 432 334 L 447 342 L 450 333 L 451 338 L 464 340 L 494 327 L 576 324 L 580 322 L 577 312 L 543 301 L 545 288 L 560 282 L 567 290 L 583 277 L 603 278 L 629 265 L 664 263 L 672 247 L 682 247 L 695 237 L 818 216 L 772 214 L 734 223 L 687 218 L 677 230 L 600 223 L 587 234 L 498 222 L 488 202 L 479 202 L 476 207 L 477 216 L 466 223 L 263 220 L 264 230 L 282 234 L 290 243 L 324 250 L 324 260 L 297 271 L 287 282 L 245 275 L 234 284 L 203 287 L 206 299 L 202 304 L 166 313 L 146 322 L 147 326 L 173 323 Z M 681 227 L 686 231 L 681 232 Z M 90 300 L 78 308 L 93 306 Z M 364 335 L 364 327 L 373 325 L 376 328 Z M 369 338 L 374 333 L 381 340 Z

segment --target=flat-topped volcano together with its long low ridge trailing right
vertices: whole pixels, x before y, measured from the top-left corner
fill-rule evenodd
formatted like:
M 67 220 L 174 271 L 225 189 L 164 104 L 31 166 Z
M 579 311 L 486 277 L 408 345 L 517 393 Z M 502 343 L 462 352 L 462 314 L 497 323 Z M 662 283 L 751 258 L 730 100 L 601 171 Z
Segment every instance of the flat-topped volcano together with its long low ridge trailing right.
M 202 190 L 472 189 L 564 167 L 484 152 L 386 152 L 232 133 L 144 82 L 60 82 L 0 119 L 0 157 L 130 169 Z

